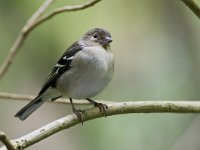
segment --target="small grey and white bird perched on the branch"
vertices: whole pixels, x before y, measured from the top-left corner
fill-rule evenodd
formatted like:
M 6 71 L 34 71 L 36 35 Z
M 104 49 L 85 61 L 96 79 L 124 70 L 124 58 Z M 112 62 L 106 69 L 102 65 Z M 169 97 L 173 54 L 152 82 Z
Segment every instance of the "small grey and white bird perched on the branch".
M 107 105 L 90 98 L 100 93 L 113 77 L 111 42 L 111 35 L 105 29 L 94 28 L 86 32 L 64 52 L 47 76 L 38 96 L 15 117 L 25 120 L 45 101 L 55 101 L 60 97 L 69 98 L 72 110 L 81 122 L 82 110 L 75 108 L 73 99 L 86 99 L 106 115 Z

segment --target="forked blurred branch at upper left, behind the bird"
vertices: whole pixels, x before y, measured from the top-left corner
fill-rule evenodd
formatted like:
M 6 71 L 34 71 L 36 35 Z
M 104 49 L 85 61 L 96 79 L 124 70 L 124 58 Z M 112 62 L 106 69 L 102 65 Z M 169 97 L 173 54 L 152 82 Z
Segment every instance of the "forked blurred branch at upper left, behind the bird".
M 53 16 L 60 14 L 62 12 L 67 11 L 76 11 L 76 10 L 82 10 L 88 7 L 91 7 L 95 5 L 96 3 L 100 2 L 101 0 L 92 0 L 90 2 L 87 2 L 82 5 L 76 5 L 76 6 L 65 6 L 61 8 L 57 8 L 54 11 L 50 12 L 49 14 L 44 14 L 48 6 L 53 2 L 54 0 L 46 0 L 41 7 L 33 14 L 33 16 L 28 20 L 26 25 L 22 28 L 21 32 L 19 33 L 16 41 L 12 45 L 11 49 L 8 52 L 8 55 L 6 56 L 4 62 L 0 66 L 0 79 L 5 75 L 5 73 L 8 71 L 10 65 L 12 64 L 14 58 L 16 57 L 17 53 L 19 52 L 19 49 L 23 45 L 25 39 L 27 38 L 27 35 L 38 25 L 41 23 L 47 21 L 48 19 L 52 18 Z

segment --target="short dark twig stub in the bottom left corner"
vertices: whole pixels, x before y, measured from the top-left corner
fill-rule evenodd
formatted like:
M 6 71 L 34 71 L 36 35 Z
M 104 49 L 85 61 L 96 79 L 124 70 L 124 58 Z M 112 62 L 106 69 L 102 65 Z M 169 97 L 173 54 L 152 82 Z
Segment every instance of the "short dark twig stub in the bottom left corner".
M 11 140 L 7 137 L 4 132 L 0 131 L 0 141 L 6 146 L 8 150 L 16 150 L 15 145 L 11 142 Z

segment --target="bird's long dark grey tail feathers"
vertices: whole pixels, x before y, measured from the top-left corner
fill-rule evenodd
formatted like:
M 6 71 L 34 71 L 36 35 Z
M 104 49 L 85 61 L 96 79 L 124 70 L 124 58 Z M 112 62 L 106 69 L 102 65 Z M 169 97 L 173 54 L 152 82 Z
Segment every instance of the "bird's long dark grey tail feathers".
M 20 120 L 25 120 L 29 115 L 31 115 L 36 109 L 38 109 L 45 100 L 42 99 L 42 96 L 36 97 L 26 106 L 24 106 L 16 115 Z

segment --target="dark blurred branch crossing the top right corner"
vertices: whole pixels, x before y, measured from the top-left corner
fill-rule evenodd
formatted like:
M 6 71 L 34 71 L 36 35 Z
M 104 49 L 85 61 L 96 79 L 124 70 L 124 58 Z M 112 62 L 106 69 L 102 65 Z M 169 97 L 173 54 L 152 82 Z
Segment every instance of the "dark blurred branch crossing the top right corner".
M 200 19 L 200 6 L 196 0 L 181 0 Z

